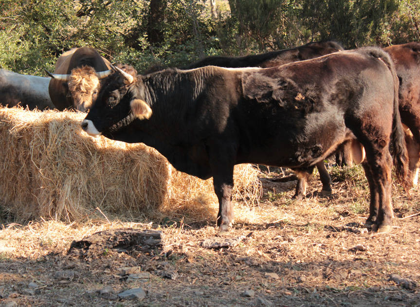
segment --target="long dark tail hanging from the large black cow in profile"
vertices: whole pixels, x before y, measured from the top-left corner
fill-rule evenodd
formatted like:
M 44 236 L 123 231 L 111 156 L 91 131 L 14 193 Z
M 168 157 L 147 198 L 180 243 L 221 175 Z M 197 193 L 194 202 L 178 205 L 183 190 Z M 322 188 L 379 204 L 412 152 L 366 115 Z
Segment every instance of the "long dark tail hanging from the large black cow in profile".
M 394 63 L 386 52 L 380 50 L 380 56 L 378 56 L 387 65 L 389 71 L 392 73 L 394 79 L 394 111 L 392 117 L 392 134 L 391 134 L 391 153 L 394 160 L 395 174 L 397 180 L 400 181 L 405 191 L 408 193 L 412 182 L 409 180 L 408 170 L 408 153 L 407 146 L 405 144 L 405 134 L 402 129 L 401 117 L 399 111 L 399 87 L 400 81 L 397 76 L 397 72 L 394 67 Z M 378 54 L 379 55 L 379 54 Z

